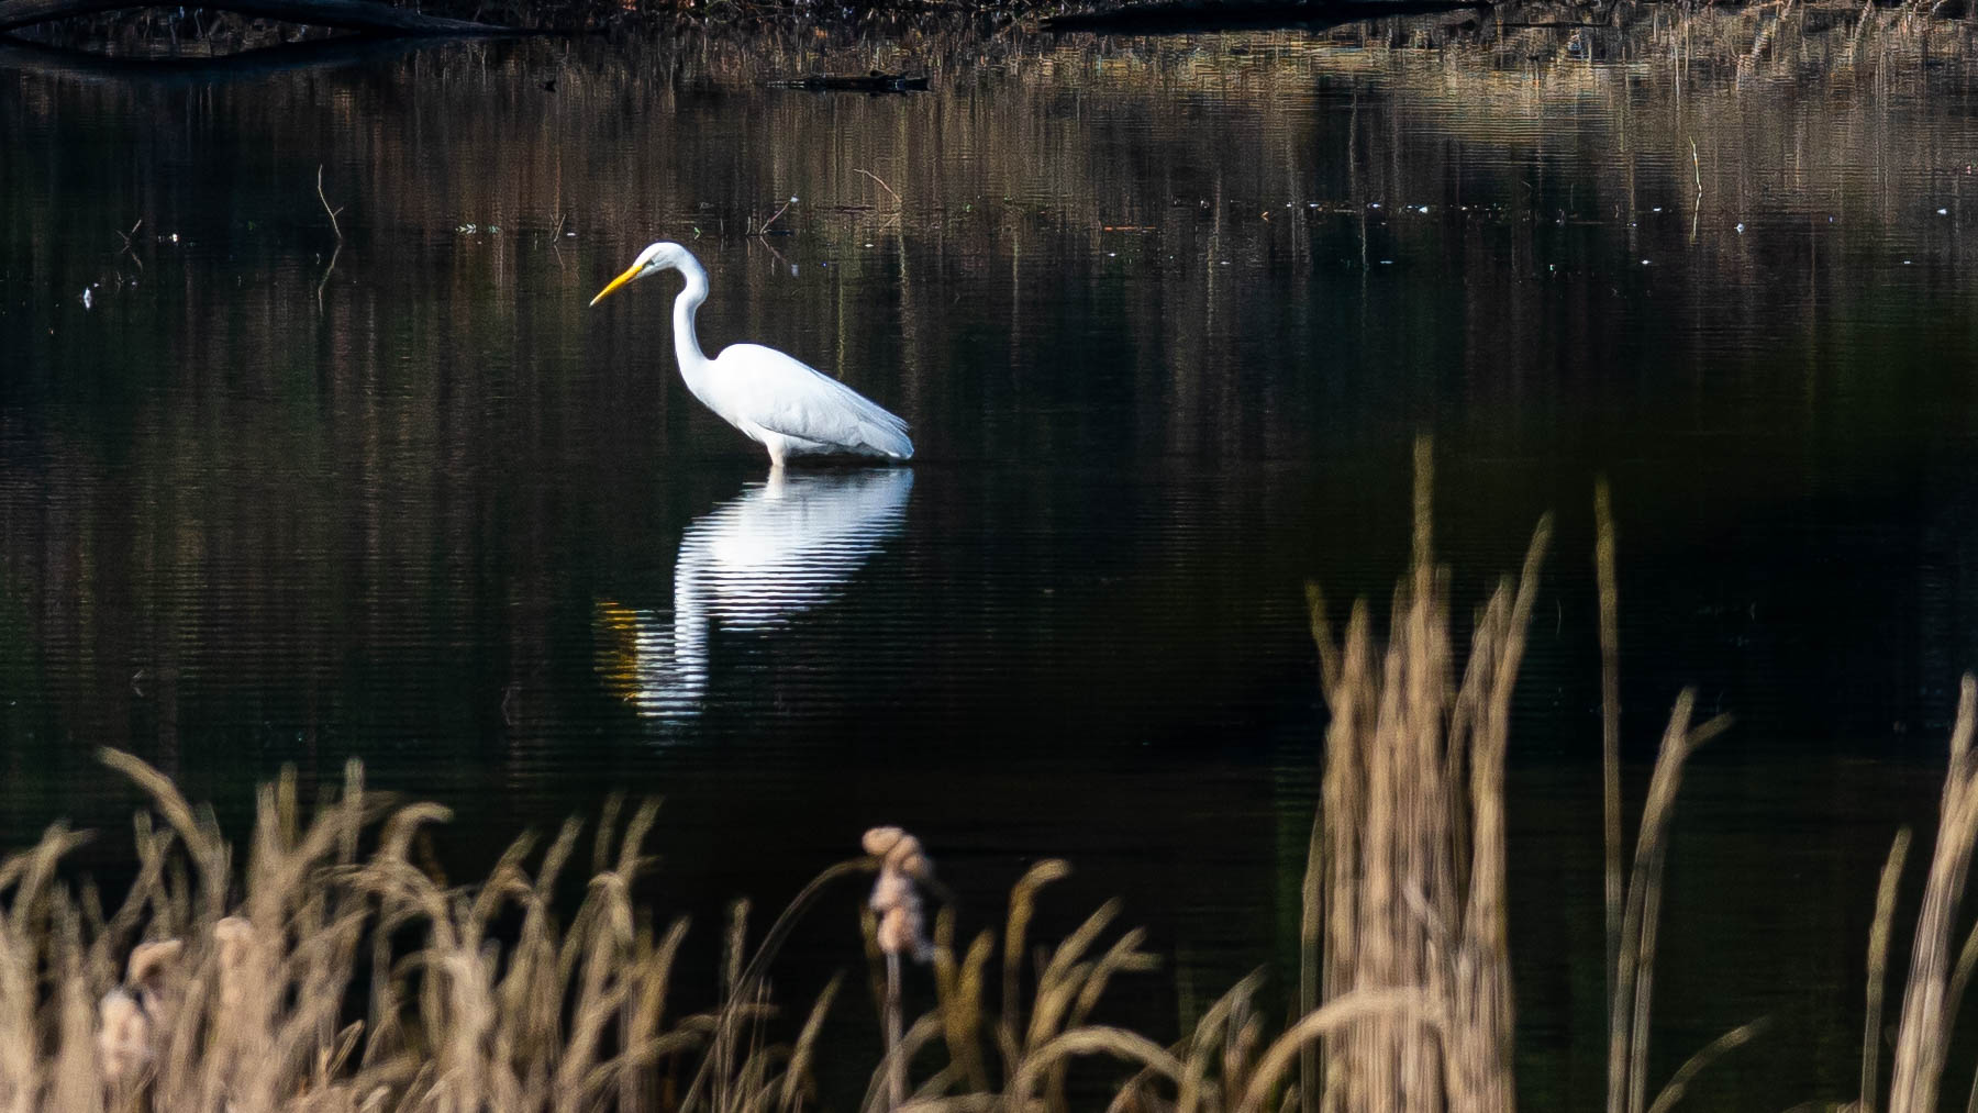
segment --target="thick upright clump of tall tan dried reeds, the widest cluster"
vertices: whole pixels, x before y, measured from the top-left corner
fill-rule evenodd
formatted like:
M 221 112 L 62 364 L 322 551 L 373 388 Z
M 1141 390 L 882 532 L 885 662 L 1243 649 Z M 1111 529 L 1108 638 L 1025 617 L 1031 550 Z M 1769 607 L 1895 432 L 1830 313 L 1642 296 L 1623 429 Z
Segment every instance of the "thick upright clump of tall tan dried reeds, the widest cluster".
M 1317 1091 L 1327 1111 L 1513 1107 L 1503 757 L 1551 522 L 1539 522 L 1521 577 L 1480 613 L 1458 682 L 1448 573 L 1432 552 L 1432 465 L 1422 439 L 1414 567 L 1385 650 L 1365 603 L 1335 642 L 1323 597 L 1307 589 L 1331 726 L 1305 874 L 1304 1004 L 1313 988 L 1323 1004 L 1311 1016 L 1357 994 L 1418 994 L 1406 1016 L 1327 1030 L 1319 1062 L 1302 1062 L 1302 1101 Z

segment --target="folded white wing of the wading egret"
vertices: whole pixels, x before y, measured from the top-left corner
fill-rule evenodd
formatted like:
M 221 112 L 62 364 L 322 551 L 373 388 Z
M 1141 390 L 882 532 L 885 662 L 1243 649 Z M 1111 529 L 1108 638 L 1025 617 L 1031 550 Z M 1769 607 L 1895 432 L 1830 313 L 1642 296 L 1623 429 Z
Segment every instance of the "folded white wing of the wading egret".
M 714 384 L 738 417 L 821 449 L 908 459 L 906 421 L 882 405 L 762 344 L 732 344 L 714 360 Z

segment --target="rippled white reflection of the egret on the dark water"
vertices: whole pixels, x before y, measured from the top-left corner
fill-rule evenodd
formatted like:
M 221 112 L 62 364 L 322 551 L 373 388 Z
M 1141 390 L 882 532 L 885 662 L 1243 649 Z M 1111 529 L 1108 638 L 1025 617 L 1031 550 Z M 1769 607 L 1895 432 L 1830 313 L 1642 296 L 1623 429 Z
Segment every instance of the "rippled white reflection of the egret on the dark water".
M 708 639 L 769 631 L 827 603 L 906 522 L 914 472 L 769 472 L 694 518 L 673 567 L 673 613 L 599 601 L 597 670 L 639 714 L 684 718 L 708 692 Z

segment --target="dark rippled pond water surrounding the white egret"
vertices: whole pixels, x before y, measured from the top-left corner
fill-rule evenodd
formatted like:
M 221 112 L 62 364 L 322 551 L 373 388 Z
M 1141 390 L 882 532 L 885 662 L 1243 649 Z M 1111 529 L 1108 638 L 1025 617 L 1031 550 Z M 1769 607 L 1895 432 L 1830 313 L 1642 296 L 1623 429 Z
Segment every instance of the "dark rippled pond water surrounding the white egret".
M 1527 1105 L 1602 1071 L 1600 474 L 1634 797 L 1683 684 L 1739 718 L 1683 789 L 1658 1075 L 1764 1014 L 1695 1099 L 1845 1097 L 1875 870 L 1978 664 L 1970 43 L 1644 20 L 0 57 L 0 836 L 103 826 L 113 870 L 99 745 L 231 822 L 362 757 L 455 809 L 461 876 L 651 793 L 653 899 L 712 925 L 902 822 L 965 925 L 1038 856 L 1080 868 L 1052 927 L 1124 898 L 1169 965 L 1112 1018 L 1173 1032 L 1296 951 L 1304 585 L 1387 597 L 1432 433 L 1464 609 L 1559 522 L 1509 773 Z M 934 81 L 764 87 L 823 65 Z M 765 482 L 669 283 L 585 308 L 663 237 L 710 348 L 841 376 L 912 469 Z M 854 899 L 795 992 L 858 963 Z

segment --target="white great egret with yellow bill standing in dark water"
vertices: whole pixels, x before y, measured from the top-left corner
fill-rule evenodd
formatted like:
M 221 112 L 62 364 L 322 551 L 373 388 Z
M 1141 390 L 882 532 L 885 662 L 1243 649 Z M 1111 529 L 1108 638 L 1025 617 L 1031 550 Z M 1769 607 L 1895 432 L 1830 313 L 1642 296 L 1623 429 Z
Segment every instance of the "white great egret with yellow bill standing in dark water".
M 673 299 L 673 354 L 680 360 L 686 389 L 722 421 L 769 449 L 769 467 L 781 469 L 789 457 L 853 453 L 860 457 L 914 455 L 900 421 L 876 401 L 839 380 L 762 344 L 730 344 L 708 358 L 694 336 L 694 310 L 708 300 L 708 273 L 700 259 L 678 243 L 653 243 L 633 259 L 631 269 L 597 291 L 591 304 L 605 300 L 625 283 L 661 271 L 686 279 Z

